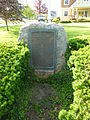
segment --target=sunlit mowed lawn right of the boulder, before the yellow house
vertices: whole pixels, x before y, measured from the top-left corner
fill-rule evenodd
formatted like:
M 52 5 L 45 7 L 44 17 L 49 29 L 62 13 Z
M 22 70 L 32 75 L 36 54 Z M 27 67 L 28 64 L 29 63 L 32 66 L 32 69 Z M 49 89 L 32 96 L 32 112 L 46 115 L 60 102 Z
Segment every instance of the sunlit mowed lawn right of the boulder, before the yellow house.
M 90 35 L 90 23 L 67 23 L 62 25 L 67 32 L 68 39 L 81 35 Z

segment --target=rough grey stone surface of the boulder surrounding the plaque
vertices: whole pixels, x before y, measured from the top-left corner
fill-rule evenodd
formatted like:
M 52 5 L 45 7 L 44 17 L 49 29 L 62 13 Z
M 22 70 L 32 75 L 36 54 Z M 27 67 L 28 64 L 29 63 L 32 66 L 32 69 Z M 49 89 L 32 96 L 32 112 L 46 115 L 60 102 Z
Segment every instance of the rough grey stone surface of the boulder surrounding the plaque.
M 55 23 L 44 23 L 44 22 L 31 22 L 20 29 L 20 34 L 18 41 L 23 39 L 24 43 L 29 45 L 29 33 L 30 30 L 40 30 L 40 29 L 47 29 L 47 30 L 56 30 L 57 31 L 57 49 L 56 49 L 56 71 L 60 70 L 62 65 L 65 64 L 64 53 L 67 48 L 67 35 L 64 28 L 61 25 L 57 25 Z M 50 70 L 36 70 L 36 74 L 40 76 L 48 76 L 56 71 Z

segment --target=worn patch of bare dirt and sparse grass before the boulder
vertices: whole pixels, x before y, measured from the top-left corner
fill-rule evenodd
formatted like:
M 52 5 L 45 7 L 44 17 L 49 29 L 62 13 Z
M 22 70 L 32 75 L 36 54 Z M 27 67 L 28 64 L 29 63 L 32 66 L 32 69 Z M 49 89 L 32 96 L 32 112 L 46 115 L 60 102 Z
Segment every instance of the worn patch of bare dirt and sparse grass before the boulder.
M 53 109 L 51 99 L 54 98 L 56 98 L 56 91 L 51 85 L 35 83 L 29 103 L 30 120 L 51 120 L 49 116 Z

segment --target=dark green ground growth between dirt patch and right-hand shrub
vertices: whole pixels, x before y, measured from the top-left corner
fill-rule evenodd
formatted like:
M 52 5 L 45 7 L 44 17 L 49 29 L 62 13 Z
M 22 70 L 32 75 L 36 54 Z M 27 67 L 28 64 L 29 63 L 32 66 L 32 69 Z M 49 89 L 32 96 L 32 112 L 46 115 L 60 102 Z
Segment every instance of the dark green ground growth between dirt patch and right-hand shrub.
M 58 73 L 50 75 L 47 79 L 39 79 L 38 82 L 40 83 L 50 84 L 56 93 L 54 96 L 50 96 L 52 106 L 49 110 L 49 117 L 51 120 L 58 120 L 60 110 L 69 109 L 73 101 L 72 81 L 72 72 L 67 65 L 63 66 Z

